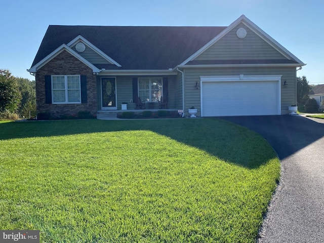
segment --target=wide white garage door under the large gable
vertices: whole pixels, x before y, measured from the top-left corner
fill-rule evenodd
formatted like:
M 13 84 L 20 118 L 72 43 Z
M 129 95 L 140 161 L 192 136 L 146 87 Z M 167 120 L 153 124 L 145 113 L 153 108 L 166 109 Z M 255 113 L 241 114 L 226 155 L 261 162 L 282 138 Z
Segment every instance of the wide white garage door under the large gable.
M 277 115 L 276 80 L 201 83 L 201 116 Z

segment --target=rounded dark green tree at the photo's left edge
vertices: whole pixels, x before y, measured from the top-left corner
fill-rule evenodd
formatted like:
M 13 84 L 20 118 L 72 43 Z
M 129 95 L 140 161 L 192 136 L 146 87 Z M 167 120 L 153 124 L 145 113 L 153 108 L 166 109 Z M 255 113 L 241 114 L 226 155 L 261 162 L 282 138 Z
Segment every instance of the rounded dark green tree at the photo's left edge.
M 17 79 L 9 70 L 0 69 L 0 112 L 14 113 L 21 100 Z

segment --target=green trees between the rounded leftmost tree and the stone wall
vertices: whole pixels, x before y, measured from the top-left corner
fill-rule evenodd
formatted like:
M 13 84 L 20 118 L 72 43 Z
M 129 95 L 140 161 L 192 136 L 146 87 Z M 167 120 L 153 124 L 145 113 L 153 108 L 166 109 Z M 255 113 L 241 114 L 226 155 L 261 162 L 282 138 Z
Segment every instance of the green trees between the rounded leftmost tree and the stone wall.
M 32 117 L 36 116 L 36 87 L 35 81 L 30 81 L 28 78 L 17 77 L 19 91 L 21 93 L 21 103 L 19 106 L 19 114 L 21 116 Z

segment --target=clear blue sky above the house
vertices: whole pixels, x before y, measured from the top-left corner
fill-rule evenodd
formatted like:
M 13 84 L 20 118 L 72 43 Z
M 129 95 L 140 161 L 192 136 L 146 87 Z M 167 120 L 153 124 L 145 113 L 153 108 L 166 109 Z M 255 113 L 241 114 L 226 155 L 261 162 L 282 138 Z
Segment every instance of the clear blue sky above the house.
M 49 25 L 228 26 L 244 14 L 324 84 L 323 0 L 0 0 L 0 69 L 34 80 L 31 67 Z

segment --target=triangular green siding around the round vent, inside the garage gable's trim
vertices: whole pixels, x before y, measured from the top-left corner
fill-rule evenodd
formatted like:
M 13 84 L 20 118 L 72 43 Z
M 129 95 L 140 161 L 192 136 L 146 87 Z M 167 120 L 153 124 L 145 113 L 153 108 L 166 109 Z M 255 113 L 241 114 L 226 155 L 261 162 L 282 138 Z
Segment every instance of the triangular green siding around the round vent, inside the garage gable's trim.
M 238 28 L 245 28 L 247 36 L 238 38 Z M 194 60 L 287 59 L 244 24 L 239 24 Z

